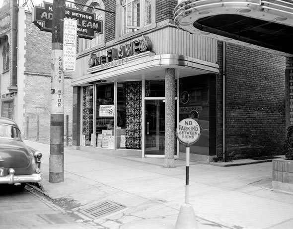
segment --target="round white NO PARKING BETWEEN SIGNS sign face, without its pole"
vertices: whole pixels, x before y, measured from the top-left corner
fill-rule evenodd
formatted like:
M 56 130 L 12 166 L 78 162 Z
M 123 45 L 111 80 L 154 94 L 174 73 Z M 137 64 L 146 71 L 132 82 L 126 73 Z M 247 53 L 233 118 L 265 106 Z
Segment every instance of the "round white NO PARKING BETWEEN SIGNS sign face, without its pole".
M 183 119 L 179 122 L 176 136 L 182 143 L 192 145 L 196 143 L 201 136 L 200 125 L 194 119 Z

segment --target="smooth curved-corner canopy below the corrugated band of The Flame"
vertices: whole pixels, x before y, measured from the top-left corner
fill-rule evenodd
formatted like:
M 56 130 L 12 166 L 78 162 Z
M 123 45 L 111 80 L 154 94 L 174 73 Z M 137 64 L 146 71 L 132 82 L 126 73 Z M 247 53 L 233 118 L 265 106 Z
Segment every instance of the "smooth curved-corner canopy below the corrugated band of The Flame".
M 219 73 L 218 64 L 181 55 L 154 55 L 148 51 L 128 58 L 127 63 L 107 68 L 97 66 L 72 81 L 73 86 L 86 85 L 99 81 L 164 79 L 165 69 L 174 68 L 178 77 L 196 76 L 205 73 Z

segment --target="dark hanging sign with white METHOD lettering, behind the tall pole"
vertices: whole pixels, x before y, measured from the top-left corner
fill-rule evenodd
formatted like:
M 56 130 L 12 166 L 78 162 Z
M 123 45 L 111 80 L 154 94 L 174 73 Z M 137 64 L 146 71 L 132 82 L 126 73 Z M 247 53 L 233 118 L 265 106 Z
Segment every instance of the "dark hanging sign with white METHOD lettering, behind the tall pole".
M 42 31 L 52 32 L 53 4 L 44 2 L 44 7 L 35 6 L 32 22 Z M 77 35 L 81 38 L 92 39 L 95 33 L 102 33 L 103 21 L 96 20 L 95 14 L 70 7 L 65 8 L 65 16 L 77 20 Z

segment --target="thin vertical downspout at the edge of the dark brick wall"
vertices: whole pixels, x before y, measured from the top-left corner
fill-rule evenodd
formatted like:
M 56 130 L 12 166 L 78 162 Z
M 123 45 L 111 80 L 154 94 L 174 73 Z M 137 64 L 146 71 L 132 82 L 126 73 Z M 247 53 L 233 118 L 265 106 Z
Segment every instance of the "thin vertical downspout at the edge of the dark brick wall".
M 223 41 L 223 161 L 226 161 L 226 42 Z

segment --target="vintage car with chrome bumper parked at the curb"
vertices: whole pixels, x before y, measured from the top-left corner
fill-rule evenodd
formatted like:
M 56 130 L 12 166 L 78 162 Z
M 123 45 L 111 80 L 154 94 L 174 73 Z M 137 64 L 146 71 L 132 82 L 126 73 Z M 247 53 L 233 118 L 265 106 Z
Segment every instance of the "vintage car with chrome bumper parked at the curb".
M 0 117 L 0 184 L 23 189 L 27 182 L 39 182 L 42 153 L 28 147 L 21 139 L 17 124 Z

